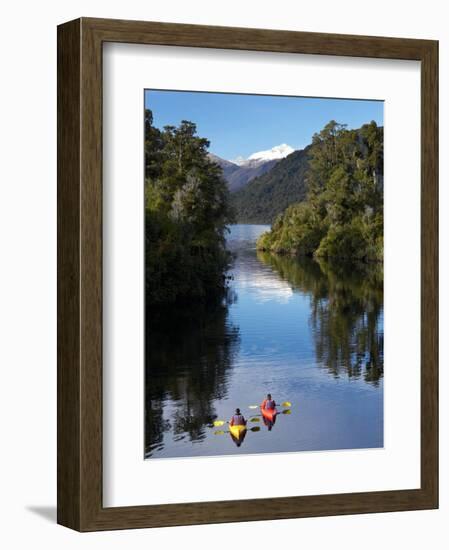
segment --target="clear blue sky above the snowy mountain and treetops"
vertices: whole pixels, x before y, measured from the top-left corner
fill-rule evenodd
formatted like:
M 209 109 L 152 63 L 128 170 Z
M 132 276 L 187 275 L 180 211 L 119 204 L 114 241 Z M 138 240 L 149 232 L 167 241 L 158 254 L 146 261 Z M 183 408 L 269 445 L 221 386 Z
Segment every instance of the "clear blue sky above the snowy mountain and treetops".
M 302 149 L 332 119 L 348 128 L 383 125 L 382 101 L 146 90 L 145 107 L 158 128 L 194 122 L 209 150 L 228 160 L 281 143 Z

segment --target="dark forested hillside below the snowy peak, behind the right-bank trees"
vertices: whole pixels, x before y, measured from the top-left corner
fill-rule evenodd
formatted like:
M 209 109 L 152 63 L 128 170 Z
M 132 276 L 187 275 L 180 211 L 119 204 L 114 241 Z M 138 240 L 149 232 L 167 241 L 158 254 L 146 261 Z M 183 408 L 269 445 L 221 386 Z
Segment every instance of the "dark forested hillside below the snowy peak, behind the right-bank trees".
M 232 194 L 239 223 L 272 223 L 290 204 L 304 200 L 309 149 L 294 151 Z

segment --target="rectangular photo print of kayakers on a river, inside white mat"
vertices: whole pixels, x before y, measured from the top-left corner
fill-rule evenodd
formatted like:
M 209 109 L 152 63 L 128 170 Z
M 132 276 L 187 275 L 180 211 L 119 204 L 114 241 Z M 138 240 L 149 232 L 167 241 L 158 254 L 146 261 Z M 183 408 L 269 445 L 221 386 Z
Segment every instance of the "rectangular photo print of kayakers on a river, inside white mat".
M 145 459 L 383 447 L 383 108 L 145 90 Z

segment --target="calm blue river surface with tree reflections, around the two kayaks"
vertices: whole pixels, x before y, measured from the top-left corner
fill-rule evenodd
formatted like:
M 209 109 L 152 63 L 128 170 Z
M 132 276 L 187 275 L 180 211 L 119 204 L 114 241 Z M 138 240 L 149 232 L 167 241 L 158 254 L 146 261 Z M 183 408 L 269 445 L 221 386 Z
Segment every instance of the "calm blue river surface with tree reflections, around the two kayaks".
M 147 333 L 146 458 L 383 446 L 380 267 L 258 253 L 267 229 L 231 226 L 226 304 Z M 236 407 L 253 418 L 268 392 L 291 402 L 270 430 L 256 416 L 238 446 L 210 427 Z

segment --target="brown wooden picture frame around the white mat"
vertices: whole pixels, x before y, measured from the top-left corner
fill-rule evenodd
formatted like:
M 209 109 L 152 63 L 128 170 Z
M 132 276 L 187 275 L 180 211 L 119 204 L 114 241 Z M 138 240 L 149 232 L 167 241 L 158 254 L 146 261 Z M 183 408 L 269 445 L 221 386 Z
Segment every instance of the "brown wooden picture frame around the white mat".
M 421 488 L 105 508 L 102 503 L 102 44 L 421 62 Z M 438 43 L 81 18 L 58 27 L 58 523 L 79 531 L 438 506 Z

